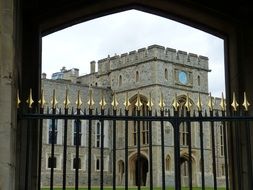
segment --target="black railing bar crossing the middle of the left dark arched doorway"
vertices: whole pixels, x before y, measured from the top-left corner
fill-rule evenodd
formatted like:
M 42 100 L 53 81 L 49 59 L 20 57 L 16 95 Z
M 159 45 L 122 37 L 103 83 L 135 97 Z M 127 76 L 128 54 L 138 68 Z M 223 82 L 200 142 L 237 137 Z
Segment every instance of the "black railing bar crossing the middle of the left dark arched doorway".
M 140 116 L 140 110 L 137 111 L 137 115 Z M 138 190 L 141 189 L 141 138 L 140 138 L 140 121 L 137 121 L 137 185 Z

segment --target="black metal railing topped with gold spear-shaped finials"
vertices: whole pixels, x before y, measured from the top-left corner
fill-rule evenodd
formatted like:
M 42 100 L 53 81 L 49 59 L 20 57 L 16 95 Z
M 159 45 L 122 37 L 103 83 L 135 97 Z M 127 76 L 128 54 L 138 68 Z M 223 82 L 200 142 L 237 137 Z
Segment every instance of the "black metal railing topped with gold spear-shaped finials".
M 54 100 L 54 99 L 53 99 Z M 103 97 L 102 97 L 103 100 Z M 151 100 L 151 99 L 150 99 Z M 115 101 L 115 100 L 114 100 Z M 182 186 L 187 186 L 189 189 L 193 189 L 194 186 L 198 185 L 202 189 L 205 189 L 206 187 L 213 187 L 213 189 L 217 190 L 220 187 L 225 187 L 227 190 L 231 189 L 231 186 L 233 186 L 233 182 L 230 183 L 230 181 L 233 181 L 235 178 L 233 175 L 229 176 L 229 159 L 228 159 L 228 144 L 227 144 L 227 130 L 230 127 L 234 127 L 235 130 L 237 130 L 237 133 L 239 133 L 239 127 L 245 126 L 247 130 L 250 130 L 250 121 L 253 121 L 252 116 L 248 116 L 248 110 L 247 106 L 243 111 L 237 110 L 237 105 L 233 107 L 232 103 L 232 114 L 229 114 L 225 111 L 225 107 L 221 106 L 221 108 L 214 109 L 213 103 L 212 103 L 212 97 L 210 99 L 211 103 L 209 104 L 209 107 L 207 110 L 204 110 L 201 106 L 201 102 L 197 103 L 196 108 L 197 111 L 194 111 L 191 109 L 190 103 L 188 102 L 188 98 L 186 98 L 186 101 L 182 106 L 177 102 L 177 99 L 175 98 L 172 111 L 169 109 L 165 109 L 163 100 L 160 102 L 159 110 L 153 110 L 151 104 L 149 104 L 151 101 L 146 103 L 147 110 L 145 113 L 142 114 L 142 110 L 144 109 L 142 103 L 140 102 L 140 98 L 137 97 L 136 103 L 134 104 L 135 111 L 131 111 L 131 104 L 128 103 L 128 100 L 125 102 L 124 111 L 117 108 L 116 102 L 114 102 L 114 105 L 111 108 L 106 109 L 105 104 L 100 104 L 100 110 L 95 110 L 92 104 L 92 99 L 89 101 L 90 104 L 88 104 L 87 109 L 81 109 L 80 102 L 77 103 L 76 108 L 72 108 L 72 110 L 69 110 L 68 108 L 68 101 L 66 98 L 65 101 L 65 108 L 64 113 L 62 113 L 62 110 L 60 108 L 56 108 L 56 101 L 52 103 L 52 106 L 48 109 L 44 109 L 43 103 L 40 103 L 42 105 L 39 109 L 39 111 L 36 111 L 35 107 L 32 106 L 32 104 L 28 101 L 28 108 L 25 110 L 25 108 L 19 108 L 19 119 L 21 120 L 27 120 L 39 121 L 39 125 L 41 127 L 41 134 L 47 130 L 47 125 L 45 125 L 46 120 L 51 120 L 52 123 L 52 129 L 51 129 L 51 144 L 49 144 L 50 147 L 50 158 L 51 163 L 49 164 L 50 167 L 48 171 L 42 172 L 41 166 L 42 162 L 45 160 L 40 160 L 40 173 L 39 173 L 39 184 L 42 183 L 42 175 L 50 174 L 49 176 L 49 188 L 52 190 L 56 186 L 61 186 L 62 189 L 68 189 L 69 186 L 74 186 L 75 189 L 79 189 L 79 186 L 85 186 L 87 189 L 92 189 L 93 186 L 100 187 L 101 190 L 104 189 L 106 186 L 112 187 L 112 189 L 116 188 L 124 188 L 129 189 L 130 186 L 136 186 L 138 190 L 142 188 L 142 186 L 147 186 L 149 189 L 154 189 L 155 187 L 161 187 L 163 190 L 165 190 L 168 186 L 174 187 L 176 190 L 181 190 Z M 223 100 L 221 100 L 223 101 Z M 247 101 L 247 100 L 246 100 Z M 40 101 L 41 102 L 41 101 Z M 104 102 L 105 103 L 105 102 Z M 133 106 L 133 104 L 132 104 Z M 51 110 L 51 111 L 50 111 Z M 134 113 L 136 112 L 136 113 Z M 74 114 L 75 113 L 75 114 Z M 58 126 L 57 121 L 62 120 L 63 125 Z M 69 151 L 69 145 L 68 145 L 68 129 L 71 127 L 70 121 L 76 121 L 75 127 L 76 127 L 76 141 L 75 142 L 75 152 L 74 152 L 74 184 L 70 184 L 68 181 L 69 175 L 69 167 L 68 167 L 68 151 Z M 82 122 L 87 121 L 87 146 L 85 146 L 85 149 L 81 149 L 81 131 L 82 131 Z M 92 155 L 94 153 L 94 140 L 97 138 L 94 135 L 94 121 L 100 122 L 100 136 L 99 137 L 99 146 L 97 149 L 99 149 L 99 163 L 97 163 L 97 169 L 99 171 L 99 183 L 95 181 L 93 178 L 97 177 L 97 172 L 94 172 L 94 165 Z M 105 122 L 109 123 L 109 130 L 111 143 L 109 144 L 109 149 L 111 150 L 110 155 L 110 166 L 108 171 L 105 171 Z M 118 125 L 118 122 L 121 122 L 120 125 Z M 132 145 L 130 143 L 129 137 L 131 136 L 131 125 L 135 122 L 137 125 L 137 141 L 136 146 Z M 141 131 L 141 123 L 146 122 L 148 124 L 148 145 L 144 146 L 141 142 L 142 137 L 142 131 Z M 171 129 L 173 130 L 173 143 L 171 143 L 171 146 L 168 145 L 168 143 L 165 143 L 165 140 L 169 138 L 169 135 L 165 133 L 165 123 L 169 123 L 171 126 Z M 186 126 L 185 134 L 187 137 L 186 144 L 184 146 L 181 145 L 181 136 L 182 132 L 180 131 L 180 126 L 184 124 Z M 56 126 L 57 130 L 61 127 L 63 130 L 63 143 L 62 143 L 62 155 L 63 155 L 63 161 L 62 161 L 62 168 L 56 171 L 56 163 L 53 163 L 53 158 L 55 158 L 55 151 L 56 148 L 58 148 L 57 142 L 56 142 Z M 121 129 L 122 128 L 122 129 Z M 157 130 L 158 128 L 158 130 Z M 195 128 L 195 131 L 193 132 L 193 129 Z M 119 140 L 117 140 L 118 131 L 124 132 L 123 136 L 123 149 L 121 147 L 122 152 L 120 155 L 124 157 L 124 185 L 123 187 L 117 184 L 117 153 L 119 153 L 119 147 L 117 146 L 117 143 Z M 155 130 L 157 138 L 160 140 L 156 140 L 154 142 L 154 135 L 153 131 Z M 221 131 L 223 130 L 223 131 Z M 160 131 L 160 135 L 159 135 Z M 199 131 L 198 133 L 196 131 Z M 205 131 L 205 132 L 204 132 Z M 209 131 L 210 133 L 207 133 Z M 218 131 L 218 132 L 217 132 Z M 196 138 L 197 134 L 199 134 L 199 138 Z M 194 146 L 193 146 L 193 135 L 195 136 Z M 210 136 L 209 136 L 210 135 Z M 222 135 L 222 138 L 219 139 L 219 135 Z M 250 138 L 248 136 L 249 133 L 247 133 L 246 138 Z M 122 134 L 121 134 L 122 136 Z M 93 139 L 94 138 L 94 139 Z M 196 140 L 197 139 L 197 140 Z M 210 146 L 208 146 L 206 141 L 209 141 L 210 139 Z M 42 158 L 42 152 L 43 152 L 43 146 L 44 144 L 48 144 L 43 142 L 43 138 L 41 135 L 40 138 L 40 157 Z M 160 143 L 160 144 L 158 144 Z M 197 145 L 196 145 L 197 144 Z M 219 146 L 222 145 L 222 146 Z M 27 144 L 29 146 L 29 143 Z M 154 148 L 159 147 L 159 149 L 156 149 L 156 152 L 154 152 Z M 165 163 L 165 150 L 167 150 L 167 147 L 171 147 L 171 150 L 173 150 L 173 154 L 171 155 L 174 159 L 174 167 L 173 163 L 171 163 L 171 171 L 170 174 L 166 172 L 166 163 Z M 220 150 L 220 147 L 222 147 L 222 150 Z M 72 147 L 73 148 L 73 147 Z M 108 147 L 107 147 L 108 148 Z M 238 152 L 240 152 L 240 147 L 237 146 Z M 143 152 L 144 149 L 147 154 L 147 160 L 148 165 L 145 165 L 143 162 Z M 159 151 L 157 151 L 159 150 Z M 58 150 L 59 151 L 59 150 Z M 80 170 L 80 151 L 85 151 L 87 154 L 88 160 L 87 162 L 87 171 Z M 131 175 L 135 175 L 135 179 L 130 175 L 129 171 L 129 154 L 130 152 L 136 152 L 136 159 L 135 159 L 135 171 Z M 223 155 L 222 158 L 219 158 L 219 151 L 222 151 Z M 248 161 L 251 163 L 251 147 L 250 144 L 247 145 L 247 151 L 248 151 Z M 155 155 L 160 160 L 160 163 L 153 164 L 154 162 L 154 153 L 160 155 Z M 199 167 L 197 167 L 197 160 L 195 160 L 195 168 L 193 168 L 193 159 L 194 159 L 194 152 L 198 152 L 199 155 Z M 83 154 L 83 152 L 81 152 Z M 182 155 L 184 153 L 184 155 Z M 210 155 L 210 154 L 211 155 Z M 218 154 L 217 154 L 218 153 Z M 29 154 L 29 152 L 27 153 Z M 208 170 L 209 163 L 206 163 L 208 159 L 211 158 L 212 160 L 212 169 L 211 169 L 211 177 L 208 177 Z M 184 160 L 185 159 L 185 160 Z M 188 184 L 182 183 L 182 168 L 181 165 L 183 162 L 187 162 L 187 179 Z M 218 161 L 222 161 L 222 171 L 219 171 L 219 173 L 224 174 L 222 176 L 223 182 L 217 181 L 218 178 L 221 178 L 217 175 L 218 171 L 217 168 L 220 170 L 220 166 L 217 165 Z M 28 162 L 28 160 L 27 160 Z M 96 162 L 96 160 L 95 160 Z M 237 161 L 236 167 L 242 167 L 240 160 Z M 159 166 L 158 166 L 159 165 Z M 158 167 L 158 168 L 156 168 Z M 250 166 L 251 167 L 251 166 Z M 197 172 L 197 170 L 199 172 Z M 233 168 L 231 169 L 233 170 Z M 146 174 L 144 175 L 143 172 Z M 155 172 L 155 173 L 154 173 Z M 61 176 L 62 178 L 61 184 L 59 184 L 59 180 L 55 181 L 55 175 Z M 199 174 L 197 176 L 197 174 Z M 233 172 L 230 172 L 231 174 Z M 85 177 L 82 175 L 85 174 Z M 82 181 L 80 182 L 80 175 Z M 168 177 L 168 175 L 170 177 Z M 131 176 L 131 180 L 130 180 Z M 145 177 L 144 177 L 145 176 Z M 154 176 L 156 176 L 154 178 Z M 158 178 L 157 178 L 158 176 Z M 28 177 L 28 176 L 26 176 Z M 106 179 L 105 179 L 106 177 Z M 159 181 L 159 178 L 161 177 L 161 181 Z M 199 178 L 198 178 L 199 177 Z M 144 179 L 145 178 L 145 179 Z M 149 178 L 149 180 L 147 180 Z M 193 179 L 194 178 L 194 179 Z M 108 180 L 109 179 L 109 180 Z M 172 182 L 171 182 L 171 179 Z M 43 178 L 45 180 L 45 178 Z M 144 181 L 145 180 L 145 181 Z M 195 180 L 195 182 L 194 182 Z M 132 181 L 130 183 L 130 181 Z M 149 183 L 147 183 L 147 181 Z M 196 183 L 196 181 L 199 181 Z M 240 180 L 239 180 L 240 181 Z M 43 187 L 39 187 L 39 189 L 43 189 Z

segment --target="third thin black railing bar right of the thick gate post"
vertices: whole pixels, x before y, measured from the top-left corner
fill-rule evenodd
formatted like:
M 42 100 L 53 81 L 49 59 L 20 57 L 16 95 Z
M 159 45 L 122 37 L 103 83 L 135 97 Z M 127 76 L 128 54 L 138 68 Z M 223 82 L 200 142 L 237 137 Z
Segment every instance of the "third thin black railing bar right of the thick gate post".
M 213 116 L 213 111 L 210 111 L 210 116 Z M 212 160 L 213 160 L 213 185 L 214 190 L 217 190 L 217 176 L 216 176 L 216 154 L 215 154 L 215 134 L 214 122 L 211 121 L 211 139 L 212 139 Z

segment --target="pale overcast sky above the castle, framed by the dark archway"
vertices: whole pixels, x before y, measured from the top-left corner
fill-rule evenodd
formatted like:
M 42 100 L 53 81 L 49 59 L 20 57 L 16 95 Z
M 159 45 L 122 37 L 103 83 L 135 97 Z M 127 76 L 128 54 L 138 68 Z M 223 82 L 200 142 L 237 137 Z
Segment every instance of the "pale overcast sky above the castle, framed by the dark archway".
M 89 73 L 90 61 L 138 50 L 153 44 L 207 56 L 209 91 L 225 92 L 222 39 L 152 14 L 130 10 L 84 22 L 42 39 L 42 72 L 79 68 Z

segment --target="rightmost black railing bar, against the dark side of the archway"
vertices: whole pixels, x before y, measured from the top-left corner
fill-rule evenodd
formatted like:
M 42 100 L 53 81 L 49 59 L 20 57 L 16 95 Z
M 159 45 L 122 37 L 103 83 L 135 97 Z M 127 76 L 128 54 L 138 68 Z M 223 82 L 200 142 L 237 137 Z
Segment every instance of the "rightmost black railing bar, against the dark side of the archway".
M 244 115 L 247 115 L 248 111 L 244 111 Z M 249 189 L 253 189 L 253 180 L 252 179 L 252 151 L 251 151 L 251 130 L 250 130 L 250 125 L 249 121 L 245 121 L 245 127 L 246 127 L 246 149 L 247 149 L 247 165 L 248 165 L 248 172 L 249 172 L 249 177 L 248 177 L 248 182 L 249 182 Z

